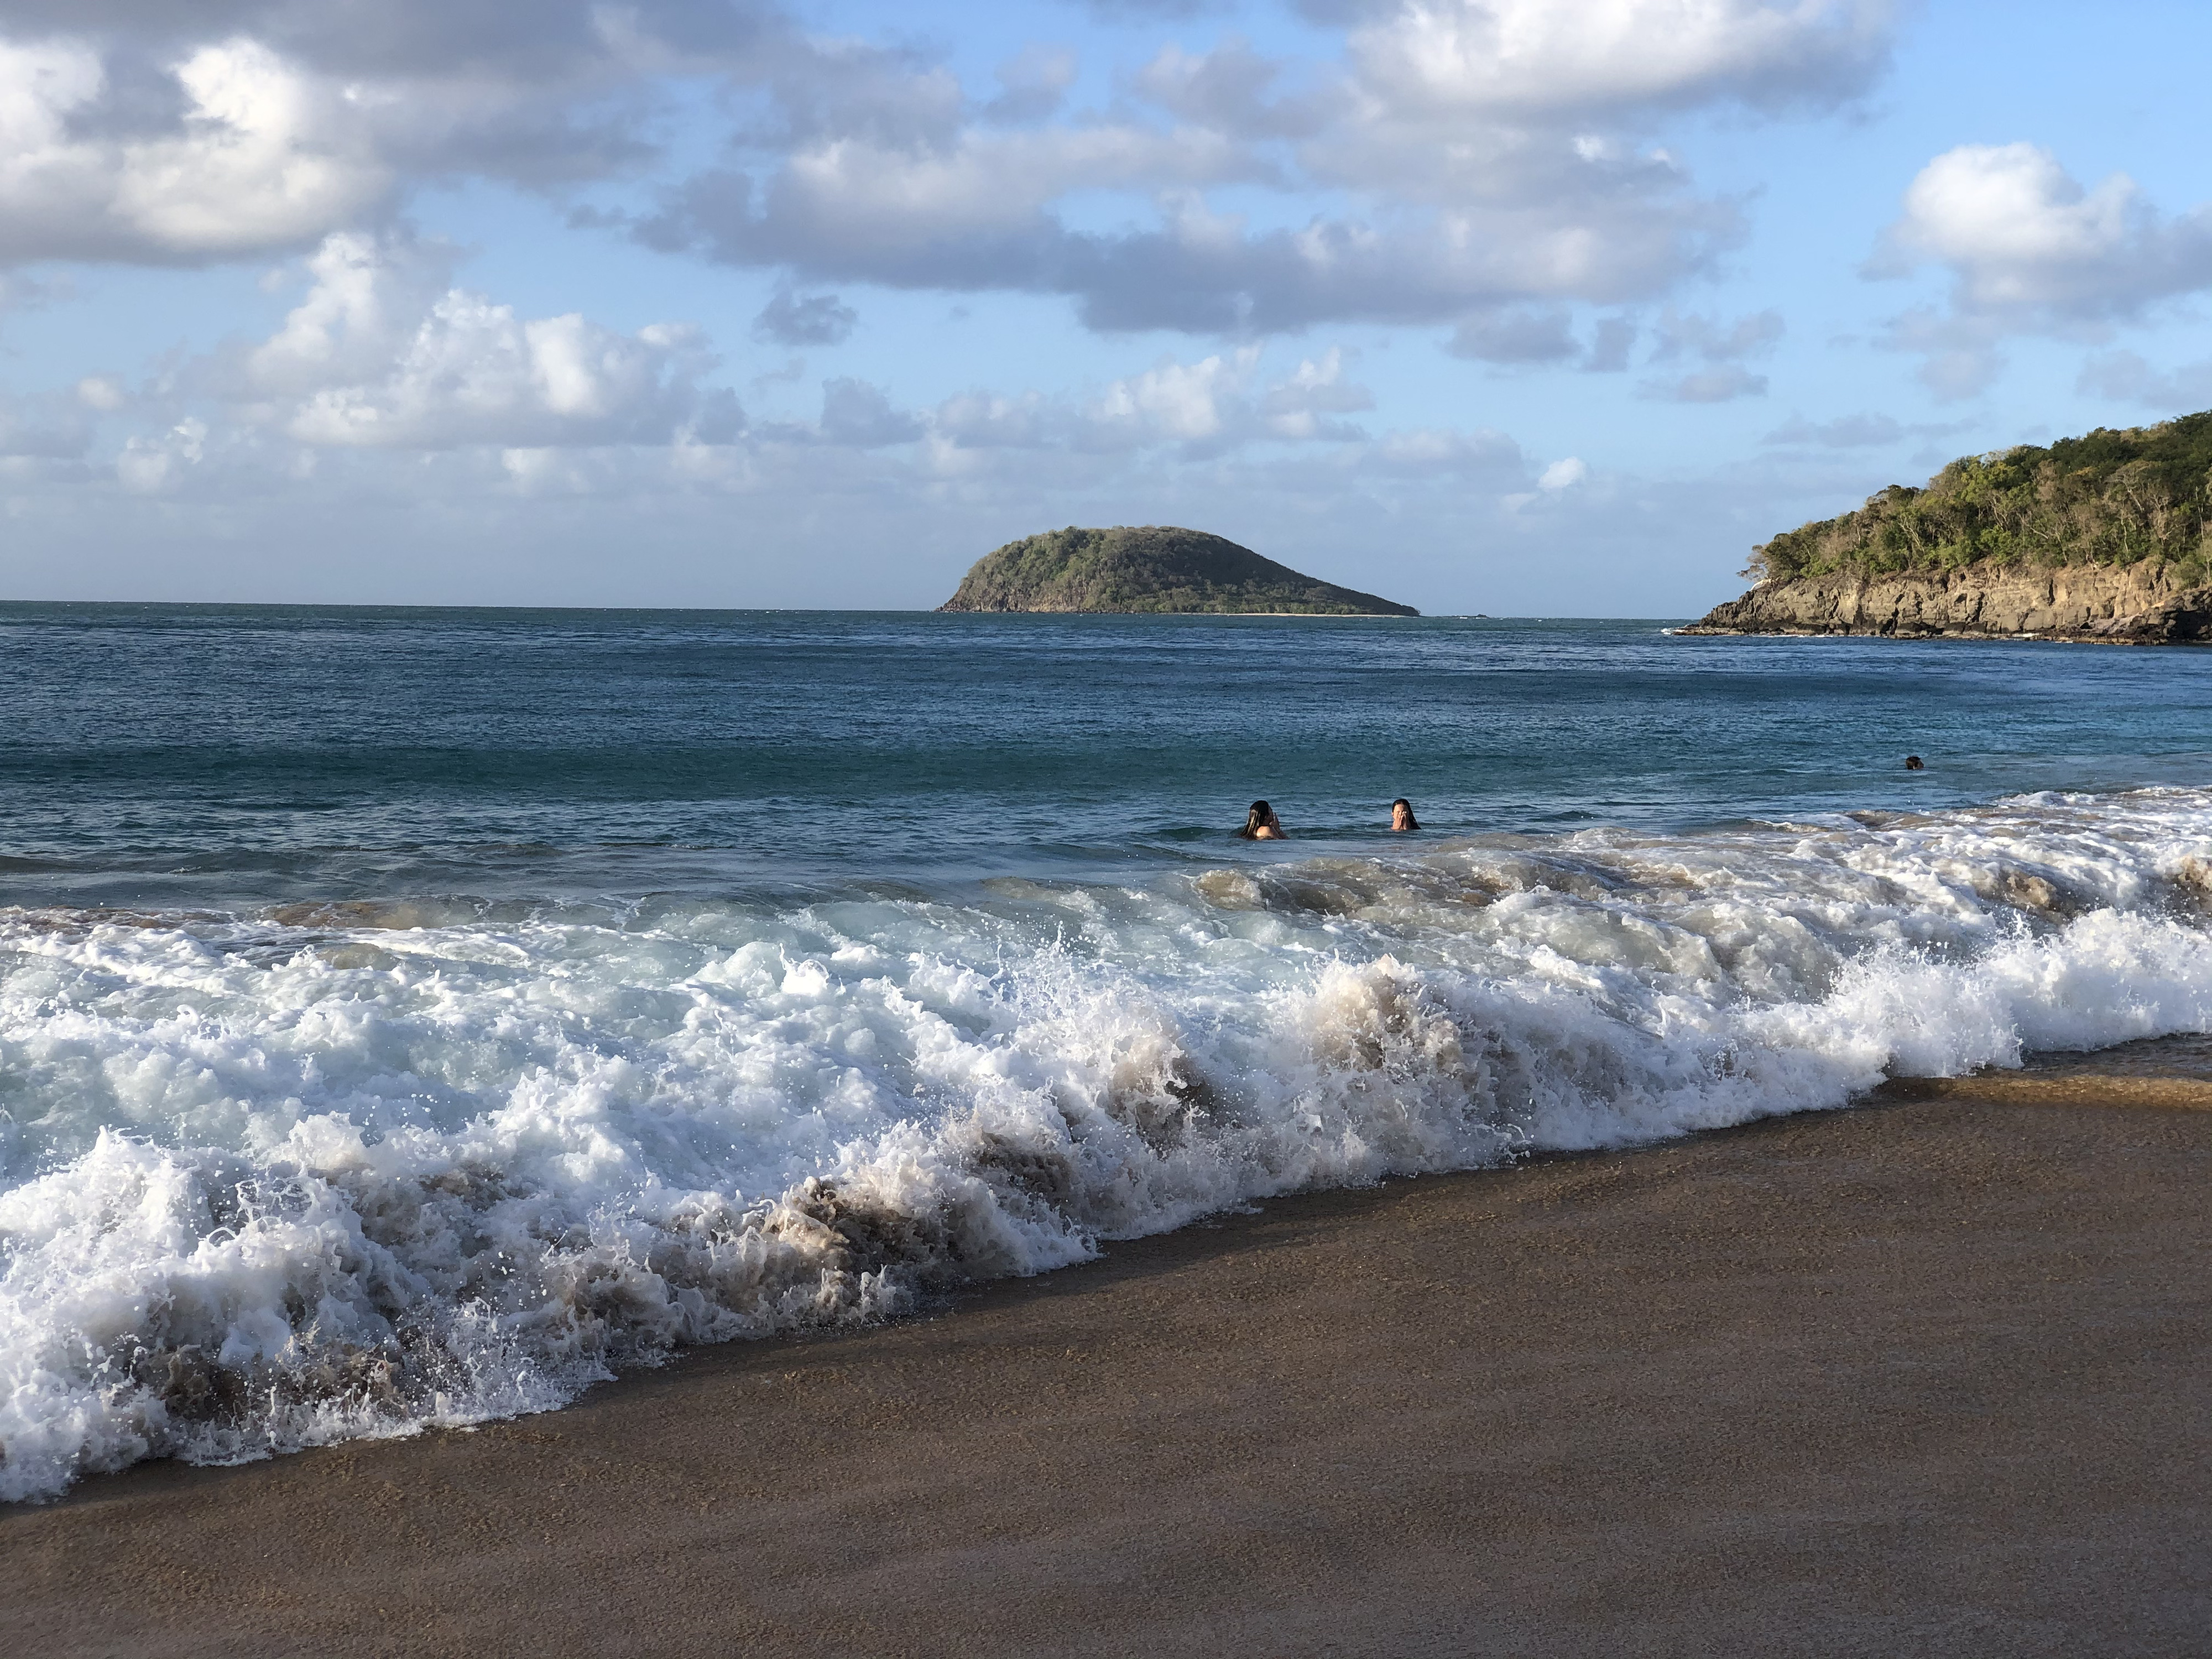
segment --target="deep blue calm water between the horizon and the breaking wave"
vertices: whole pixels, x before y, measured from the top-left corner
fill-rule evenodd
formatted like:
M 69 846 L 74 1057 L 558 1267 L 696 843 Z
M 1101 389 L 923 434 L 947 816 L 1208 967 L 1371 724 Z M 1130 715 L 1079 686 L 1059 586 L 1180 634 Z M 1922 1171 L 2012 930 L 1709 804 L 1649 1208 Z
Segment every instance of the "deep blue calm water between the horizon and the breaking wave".
M 2212 653 L 1661 628 L 0 606 L 0 902 L 1283 856 L 1225 843 L 1254 796 L 1310 843 L 1396 794 L 1542 832 L 2212 781 Z

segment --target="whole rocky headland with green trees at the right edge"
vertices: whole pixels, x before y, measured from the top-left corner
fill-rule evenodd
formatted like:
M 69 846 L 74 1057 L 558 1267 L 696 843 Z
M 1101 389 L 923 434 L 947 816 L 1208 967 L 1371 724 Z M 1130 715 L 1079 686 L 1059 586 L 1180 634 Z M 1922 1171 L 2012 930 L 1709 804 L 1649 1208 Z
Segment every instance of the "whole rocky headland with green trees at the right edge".
M 2212 644 L 2212 414 L 1964 456 L 1745 575 L 1681 633 Z

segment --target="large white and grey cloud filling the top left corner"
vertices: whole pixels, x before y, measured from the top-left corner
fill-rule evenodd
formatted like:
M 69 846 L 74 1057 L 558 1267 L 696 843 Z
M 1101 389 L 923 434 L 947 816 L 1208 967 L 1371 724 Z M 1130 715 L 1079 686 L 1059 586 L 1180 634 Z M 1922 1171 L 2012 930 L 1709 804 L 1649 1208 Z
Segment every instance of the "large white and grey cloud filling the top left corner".
M 745 0 L 13 0 L 0 261 L 234 259 L 409 179 L 606 177 L 653 153 L 655 77 L 752 84 L 810 53 Z

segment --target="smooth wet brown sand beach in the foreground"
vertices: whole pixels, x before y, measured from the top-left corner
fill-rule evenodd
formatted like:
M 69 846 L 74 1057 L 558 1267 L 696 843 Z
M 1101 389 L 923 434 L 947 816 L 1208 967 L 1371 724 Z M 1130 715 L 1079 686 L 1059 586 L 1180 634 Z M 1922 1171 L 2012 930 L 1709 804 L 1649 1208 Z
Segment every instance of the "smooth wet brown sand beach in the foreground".
M 2124 1093 L 1290 1199 L 91 1480 L 0 1511 L 0 1652 L 2208 1652 L 2212 1113 Z

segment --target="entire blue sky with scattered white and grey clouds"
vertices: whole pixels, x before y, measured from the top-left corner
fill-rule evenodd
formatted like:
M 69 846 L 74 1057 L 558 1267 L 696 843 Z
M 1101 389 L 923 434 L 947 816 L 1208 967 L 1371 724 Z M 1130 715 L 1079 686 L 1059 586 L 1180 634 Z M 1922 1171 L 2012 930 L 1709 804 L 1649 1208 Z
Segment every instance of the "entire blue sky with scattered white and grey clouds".
M 0 0 L 0 597 L 1650 615 L 2212 407 L 2212 7 Z

